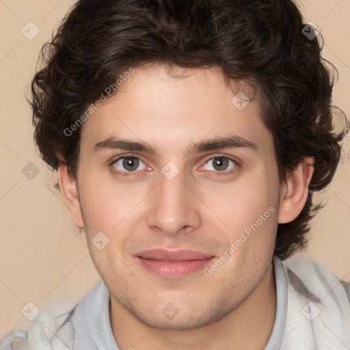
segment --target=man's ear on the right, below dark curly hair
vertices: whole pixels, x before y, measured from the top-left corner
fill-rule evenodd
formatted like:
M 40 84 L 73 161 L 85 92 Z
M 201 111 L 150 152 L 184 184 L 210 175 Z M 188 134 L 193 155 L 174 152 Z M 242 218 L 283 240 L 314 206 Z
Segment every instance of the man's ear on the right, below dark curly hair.
M 282 185 L 278 224 L 293 221 L 304 208 L 314 172 L 314 157 L 306 157 Z

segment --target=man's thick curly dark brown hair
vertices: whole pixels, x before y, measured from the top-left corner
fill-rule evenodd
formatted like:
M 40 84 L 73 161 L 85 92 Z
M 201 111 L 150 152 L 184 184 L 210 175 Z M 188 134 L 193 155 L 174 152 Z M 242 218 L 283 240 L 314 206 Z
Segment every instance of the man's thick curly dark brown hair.
M 335 130 L 334 74 L 325 63 L 336 69 L 321 57 L 322 36 L 307 37 L 305 26 L 291 0 L 77 1 L 42 47 L 42 66 L 31 83 L 42 159 L 57 170 L 62 154 L 76 176 L 80 129 L 69 136 L 65 130 L 129 67 L 219 66 L 227 79 L 258 87 L 280 181 L 304 157 L 315 159 L 303 210 L 278 225 L 275 255 L 288 258 L 306 246 L 310 219 L 320 208 L 312 204 L 312 191 L 332 180 L 345 135 Z

